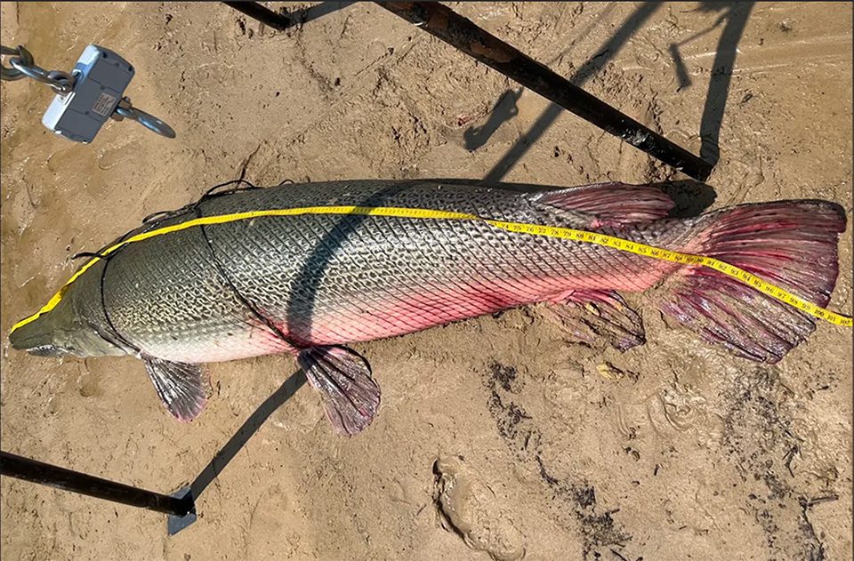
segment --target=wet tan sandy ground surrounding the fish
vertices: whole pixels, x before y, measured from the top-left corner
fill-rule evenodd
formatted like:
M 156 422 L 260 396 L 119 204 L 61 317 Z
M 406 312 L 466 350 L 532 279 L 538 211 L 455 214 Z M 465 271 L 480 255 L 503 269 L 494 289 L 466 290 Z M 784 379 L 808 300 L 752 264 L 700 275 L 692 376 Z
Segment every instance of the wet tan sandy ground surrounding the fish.
M 40 124 L 46 88 L 3 84 L 3 333 L 70 254 L 241 175 L 685 179 L 373 4 L 330 4 L 284 33 L 222 4 L 2 4 L 3 43 L 45 68 L 90 42 L 122 53 L 133 102 L 179 135 L 111 123 L 76 145 Z M 727 4 L 454 5 L 692 150 L 719 135 L 711 188 L 673 183 L 680 212 L 798 197 L 851 212 L 851 4 L 755 4 L 740 38 L 745 8 Z M 849 314 L 850 247 L 849 228 L 831 306 Z M 850 330 L 818 325 L 761 366 L 643 314 L 649 342 L 625 354 L 569 344 L 536 308 L 359 345 L 383 405 L 350 439 L 299 380 L 256 412 L 289 357 L 213 365 L 184 425 L 133 358 L 60 362 L 4 338 L 12 453 L 172 493 L 270 417 L 173 537 L 157 513 L 4 478 L 3 558 L 849 559 Z

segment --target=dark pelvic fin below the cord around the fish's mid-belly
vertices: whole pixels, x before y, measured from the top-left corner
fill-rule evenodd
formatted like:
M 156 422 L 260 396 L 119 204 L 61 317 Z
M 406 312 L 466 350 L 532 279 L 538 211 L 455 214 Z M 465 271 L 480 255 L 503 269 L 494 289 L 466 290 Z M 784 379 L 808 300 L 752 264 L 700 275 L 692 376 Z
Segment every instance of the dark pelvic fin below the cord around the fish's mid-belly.
M 365 358 L 346 347 L 311 347 L 296 359 L 320 392 L 326 416 L 338 433 L 352 436 L 371 424 L 380 405 L 380 389 Z

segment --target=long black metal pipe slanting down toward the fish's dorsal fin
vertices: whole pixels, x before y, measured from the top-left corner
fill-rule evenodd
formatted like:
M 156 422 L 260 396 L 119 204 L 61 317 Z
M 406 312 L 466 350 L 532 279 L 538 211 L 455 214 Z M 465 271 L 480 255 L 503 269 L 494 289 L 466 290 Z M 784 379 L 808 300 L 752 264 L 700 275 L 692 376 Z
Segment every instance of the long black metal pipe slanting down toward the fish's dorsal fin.
M 712 173 L 713 164 L 584 92 L 447 6 L 438 2 L 376 4 L 689 177 L 702 181 Z

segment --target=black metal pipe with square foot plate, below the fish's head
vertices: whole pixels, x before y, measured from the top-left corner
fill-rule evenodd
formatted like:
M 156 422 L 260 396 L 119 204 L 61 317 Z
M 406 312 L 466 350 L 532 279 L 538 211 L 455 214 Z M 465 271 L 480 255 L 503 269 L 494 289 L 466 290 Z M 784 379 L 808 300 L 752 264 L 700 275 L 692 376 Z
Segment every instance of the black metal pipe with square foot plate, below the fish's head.
M 192 493 L 187 493 L 178 499 L 8 452 L 0 452 L 0 475 L 50 485 L 107 501 L 121 502 L 132 507 L 157 510 L 157 512 L 176 517 L 183 517 L 196 509 Z

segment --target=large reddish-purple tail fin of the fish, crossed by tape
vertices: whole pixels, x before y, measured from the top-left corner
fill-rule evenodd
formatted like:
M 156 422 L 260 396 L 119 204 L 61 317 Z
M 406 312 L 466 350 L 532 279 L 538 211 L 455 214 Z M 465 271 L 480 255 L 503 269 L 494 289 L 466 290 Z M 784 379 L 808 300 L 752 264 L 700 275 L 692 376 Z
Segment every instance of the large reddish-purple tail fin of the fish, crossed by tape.
M 697 252 L 825 307 L 845 212 L 825 201 L 745 204 L 706 215 Z M 705 267 L 681 270 L 661 310 L 734 354 L 776 363 L 815 329 L 811 316 Z

